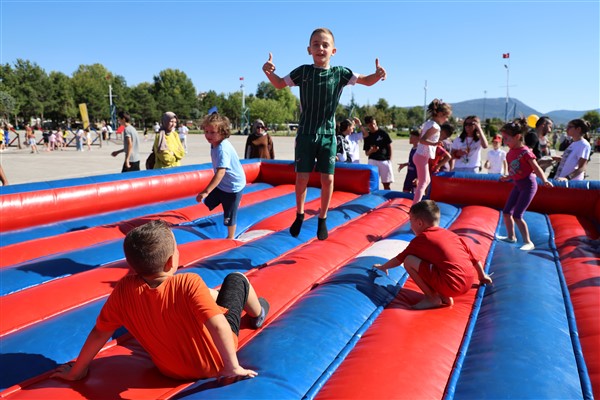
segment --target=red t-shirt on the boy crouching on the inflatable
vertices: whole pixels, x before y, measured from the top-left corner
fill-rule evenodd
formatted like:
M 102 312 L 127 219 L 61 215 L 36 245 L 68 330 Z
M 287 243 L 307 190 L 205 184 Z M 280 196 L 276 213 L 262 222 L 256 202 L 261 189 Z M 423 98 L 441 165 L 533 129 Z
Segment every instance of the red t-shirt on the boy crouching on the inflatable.
M 427 263 L 429 271 L 419 275 L 438 293 L 458 296 L 466 293 L 474 280 L 475 258 L 469 246 L 456 233 L 432 226 L 417 235 L 404 251 L 396 256 L 403 263 L 407 256 L 415 256 Z

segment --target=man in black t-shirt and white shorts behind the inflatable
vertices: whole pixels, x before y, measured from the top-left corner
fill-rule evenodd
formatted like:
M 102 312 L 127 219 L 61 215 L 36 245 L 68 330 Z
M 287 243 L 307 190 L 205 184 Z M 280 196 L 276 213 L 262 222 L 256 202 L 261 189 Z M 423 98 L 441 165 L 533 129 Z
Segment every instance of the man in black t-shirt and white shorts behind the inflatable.
M 379 128 L 377 120 L 368 115 L 365 117 L 368 136 L 364 137 L 363 149 L 368 157 L 369 165 L 374 165 L 379 171 L 379 177 L 385 190 L 390 190 L 394 182 L 394 170 L 392 168 L 392 138 Z

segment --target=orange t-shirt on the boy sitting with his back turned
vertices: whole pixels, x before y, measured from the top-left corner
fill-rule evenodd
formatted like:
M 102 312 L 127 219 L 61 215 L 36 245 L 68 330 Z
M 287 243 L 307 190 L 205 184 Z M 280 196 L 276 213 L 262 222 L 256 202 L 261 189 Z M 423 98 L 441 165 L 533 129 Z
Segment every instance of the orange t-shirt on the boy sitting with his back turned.
M 226 312 L 196 274 L 177 274 L 156 288 L 129 275 L 102 307 L 96 328 L 113 331 L 125 326 L 167 376 L 208 378 L 217 375 L 223 361 L 204 323 Z M 237 336 L 231 334 L 237 347 Z

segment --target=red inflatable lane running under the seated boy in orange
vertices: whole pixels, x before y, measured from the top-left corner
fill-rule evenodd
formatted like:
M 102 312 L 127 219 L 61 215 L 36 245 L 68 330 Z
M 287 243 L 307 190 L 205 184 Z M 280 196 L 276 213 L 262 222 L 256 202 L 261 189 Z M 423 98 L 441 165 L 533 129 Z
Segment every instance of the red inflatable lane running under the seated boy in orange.
M 248 277 L 252 284 L 271 304 L 266 324 L 270 324 L 309 291 L 314 283 L 325 279 L 348 258 L 369 247 L 373 232 L 386 235 L 405 223 L 410 203 L 407 199 L 388 202 L 333 230 L 327 241 L 312 241 L 270 262 L 265 268 L 251 271 Z M 286 285 L 273 284 L 281 280 L 287 282 Z M 259 332 L 242 328 L 240 346 Z M 118 345 L 110 342 L 99 357 L 93 361 L 89 376 L 81 382 L 72 384 L 44 376 L 25 387 L 9 388 L 3 395 L 19 399 L 160 399 L 169 398 L 189 384 L 162 376 L 139 344 L 131 338 L 123 338 Z

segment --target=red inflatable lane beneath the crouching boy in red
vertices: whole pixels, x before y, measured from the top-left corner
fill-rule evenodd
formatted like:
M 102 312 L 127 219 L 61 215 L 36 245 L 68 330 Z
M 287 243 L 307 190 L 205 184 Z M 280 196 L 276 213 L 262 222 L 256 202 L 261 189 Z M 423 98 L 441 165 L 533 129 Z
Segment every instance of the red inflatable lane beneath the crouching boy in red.
M 450 228 L 482 262 L 499 212 L 465 207 Z M 408 280 L 317 395 L 318 399 L 440 399 L 452 372 L 477 289 L 451 308 L 415 311 L 422 294 Z M 485 383 L 483 383 L 485 384 Z

